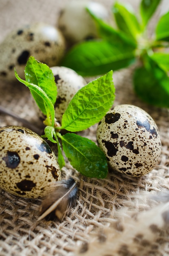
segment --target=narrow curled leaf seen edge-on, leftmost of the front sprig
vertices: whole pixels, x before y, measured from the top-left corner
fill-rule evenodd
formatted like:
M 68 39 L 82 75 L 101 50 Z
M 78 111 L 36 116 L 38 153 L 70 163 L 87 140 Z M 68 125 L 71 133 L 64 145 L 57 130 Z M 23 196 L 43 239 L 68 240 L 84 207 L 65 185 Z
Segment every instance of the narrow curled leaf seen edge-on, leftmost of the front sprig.
M 46 92 L 44 92 L 44 90 L 42 90 L 42 88 L 40 88 L 38 85 L 29 83 L 21 79 L 18 76 L 18 73 L 16 72 L 16 70 L 15 70 L 15 77 L 18 79 L 18 81 L 26 85 L 26 87 L 28 87 L 29 90 L 33 92 L 34 96 L 37 96 L 39 104 L 40 106 L 42 106 L 42 108 L 40 109 L 43 110 L 42 112 L 44 113 L 44 115 L 47 115 L 48 119 L 50 119 L 49 123 L 51 123 L 51 125 L 54 126 L 55 109 L 54 109 L 53 103 L 48 98 L 48 95 L 46 94 Z

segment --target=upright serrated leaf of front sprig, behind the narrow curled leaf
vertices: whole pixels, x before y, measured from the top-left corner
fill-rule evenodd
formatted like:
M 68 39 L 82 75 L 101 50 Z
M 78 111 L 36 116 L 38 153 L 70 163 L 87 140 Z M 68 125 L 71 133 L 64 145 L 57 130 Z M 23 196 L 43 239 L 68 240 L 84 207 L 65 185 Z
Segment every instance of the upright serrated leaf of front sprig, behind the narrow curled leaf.
M 30 56 L 26 63 L 24 73 L 26 82 L 33 83 L 42 88 L 54 105 L 57 97 L 57 86 L 52 70 L 50 70 L 46 64 L 41 63 L 35 60 L 33 56 Z

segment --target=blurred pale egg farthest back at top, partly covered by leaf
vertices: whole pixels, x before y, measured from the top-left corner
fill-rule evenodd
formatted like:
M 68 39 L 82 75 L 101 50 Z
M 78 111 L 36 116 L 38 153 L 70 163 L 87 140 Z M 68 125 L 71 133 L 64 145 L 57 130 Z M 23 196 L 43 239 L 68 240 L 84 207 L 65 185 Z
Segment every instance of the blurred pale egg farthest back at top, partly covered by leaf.
M 73 0 L 62 9 L 57 24 L 70 43 L 77 43 L 98 37 L 94 20 L 86 11 L 86 7 L 98 18 L 108 21 L 109 13 L 103 4 L 86 0 Z

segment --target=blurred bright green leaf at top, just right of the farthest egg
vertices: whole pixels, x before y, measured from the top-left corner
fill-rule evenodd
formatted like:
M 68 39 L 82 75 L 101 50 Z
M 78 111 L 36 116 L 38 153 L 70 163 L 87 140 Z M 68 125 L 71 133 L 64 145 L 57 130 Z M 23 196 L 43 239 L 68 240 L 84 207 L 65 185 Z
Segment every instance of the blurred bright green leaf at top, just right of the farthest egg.
M 112 8 L 112 11 L 119 29 L 136 40 L 141 29 L 132 6 L 129 4 L 119 4 L 116 2 Z

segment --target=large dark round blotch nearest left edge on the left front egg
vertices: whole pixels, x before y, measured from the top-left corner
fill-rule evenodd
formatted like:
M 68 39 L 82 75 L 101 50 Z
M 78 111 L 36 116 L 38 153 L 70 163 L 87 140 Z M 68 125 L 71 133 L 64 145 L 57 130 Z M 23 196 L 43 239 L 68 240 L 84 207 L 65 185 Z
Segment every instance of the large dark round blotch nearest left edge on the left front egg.
M 20 157 L 17 152 L 8 151 L 5 157 L 2 157 L 7 167 L 14 169 L 20 164 Z

